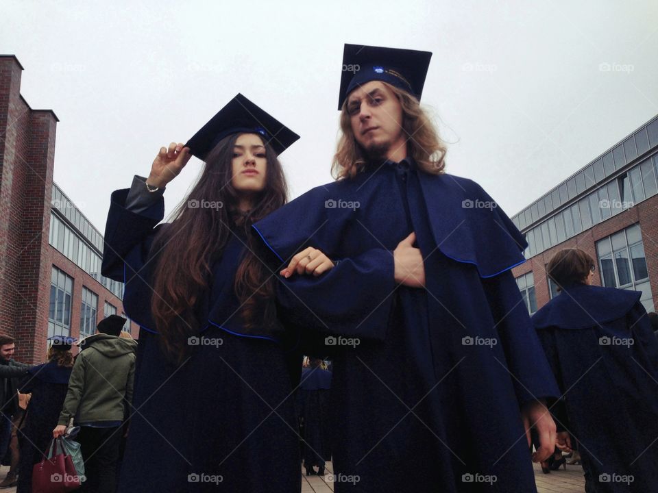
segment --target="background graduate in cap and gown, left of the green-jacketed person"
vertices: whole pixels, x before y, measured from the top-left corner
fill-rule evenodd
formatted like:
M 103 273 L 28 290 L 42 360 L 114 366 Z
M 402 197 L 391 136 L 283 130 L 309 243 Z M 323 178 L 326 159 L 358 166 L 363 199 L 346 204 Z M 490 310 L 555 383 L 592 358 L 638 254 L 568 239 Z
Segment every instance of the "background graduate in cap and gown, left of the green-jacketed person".
M 19 392 L 32 394 L 19 425 L 19 479 L 17 492 L 32 492 L 32 468 L 40 462 L 53 438 L 53 427 L 57 425 L 69 377 L 73 368 L 71 344 L 77 339 L 68 336 L 48 338 L 47 363 L 34 366 L 19 383 Z

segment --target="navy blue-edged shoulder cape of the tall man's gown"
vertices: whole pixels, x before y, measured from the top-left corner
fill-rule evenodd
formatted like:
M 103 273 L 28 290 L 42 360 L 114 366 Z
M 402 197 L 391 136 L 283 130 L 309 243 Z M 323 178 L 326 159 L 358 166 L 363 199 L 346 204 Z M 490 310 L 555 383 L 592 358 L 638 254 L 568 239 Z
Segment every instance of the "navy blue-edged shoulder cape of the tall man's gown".
M 387 173 L 386 168 L 395 169 L 395 166 L 387 165 L 374 173 L 364 172 L 353 179 L 313 188 L 258 221 L 254 229 L 279 260 L 287 262 L 308 238 L 321 236 L 326 218 L 314 212 L 319 203 L 351 194 L 358 199 L 361 212 L 377 207 L 368 201 L 367 187 L 362 185 L 380 173 Z M 446 173 L 429 175 L 415 166 L 409 173 L 417 173 L 420 187 L 413 192 L 422 195 L 432 235 L 444 255 L 473 264 L 480 277 L 493 277 L 525 262 L 522 252 L 528 244 L 524 236 L 476 182 Z M 367 216 L 367 211 L 364 213 Z M 352 218 L 349 214 L 341 217 L 347 228 Z

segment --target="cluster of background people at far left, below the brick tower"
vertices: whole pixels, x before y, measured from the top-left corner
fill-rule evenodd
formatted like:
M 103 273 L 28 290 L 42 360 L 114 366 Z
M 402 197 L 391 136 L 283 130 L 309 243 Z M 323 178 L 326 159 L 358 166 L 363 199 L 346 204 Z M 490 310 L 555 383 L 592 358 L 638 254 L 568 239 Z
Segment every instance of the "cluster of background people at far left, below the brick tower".
M 75 338 L 49 338 L 46 362 L 39 365 L 12 359 L 14 340 L 0 334 L 0 456 L 11 464 L 0 488 L 32 492 L 34 466 L 47 457 L 53 439 L 75 425 L 85 469 L 80 491 L 117 490 L 137 346 L 122 331 L 125 321 L 116 315 L 101 320 L 75 356 Z M 10 448 L 12 438 L 16 446 Z

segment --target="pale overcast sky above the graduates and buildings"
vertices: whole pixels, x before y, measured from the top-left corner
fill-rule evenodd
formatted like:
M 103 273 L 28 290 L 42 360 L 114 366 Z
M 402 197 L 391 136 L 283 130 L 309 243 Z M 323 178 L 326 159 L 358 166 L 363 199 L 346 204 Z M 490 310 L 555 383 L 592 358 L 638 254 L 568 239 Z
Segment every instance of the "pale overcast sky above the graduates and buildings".
M 651 0 L 0 5 L 21 94 L 60 118 L 55 181 L 101 232 L 110 192 L 237 92 L 302 136 L 281 155 L 291 198 L 331 181 L 345 42 L 434 53 L 422 102 L 448 172 L 510 216 L 658 114 Z M 168 213 L 200 166 L 167 187 Z

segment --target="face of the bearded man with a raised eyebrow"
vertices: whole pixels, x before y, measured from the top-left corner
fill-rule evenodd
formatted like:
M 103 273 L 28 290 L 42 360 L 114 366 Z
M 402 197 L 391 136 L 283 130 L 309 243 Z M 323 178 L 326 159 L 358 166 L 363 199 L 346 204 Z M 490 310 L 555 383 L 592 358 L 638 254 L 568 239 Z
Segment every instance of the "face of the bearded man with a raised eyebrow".
M 388 157 L 406 146 L 402 105 L 382 82 L 369 81 L 353 90 L 348 114 L 354 138 L 369 157 Z

